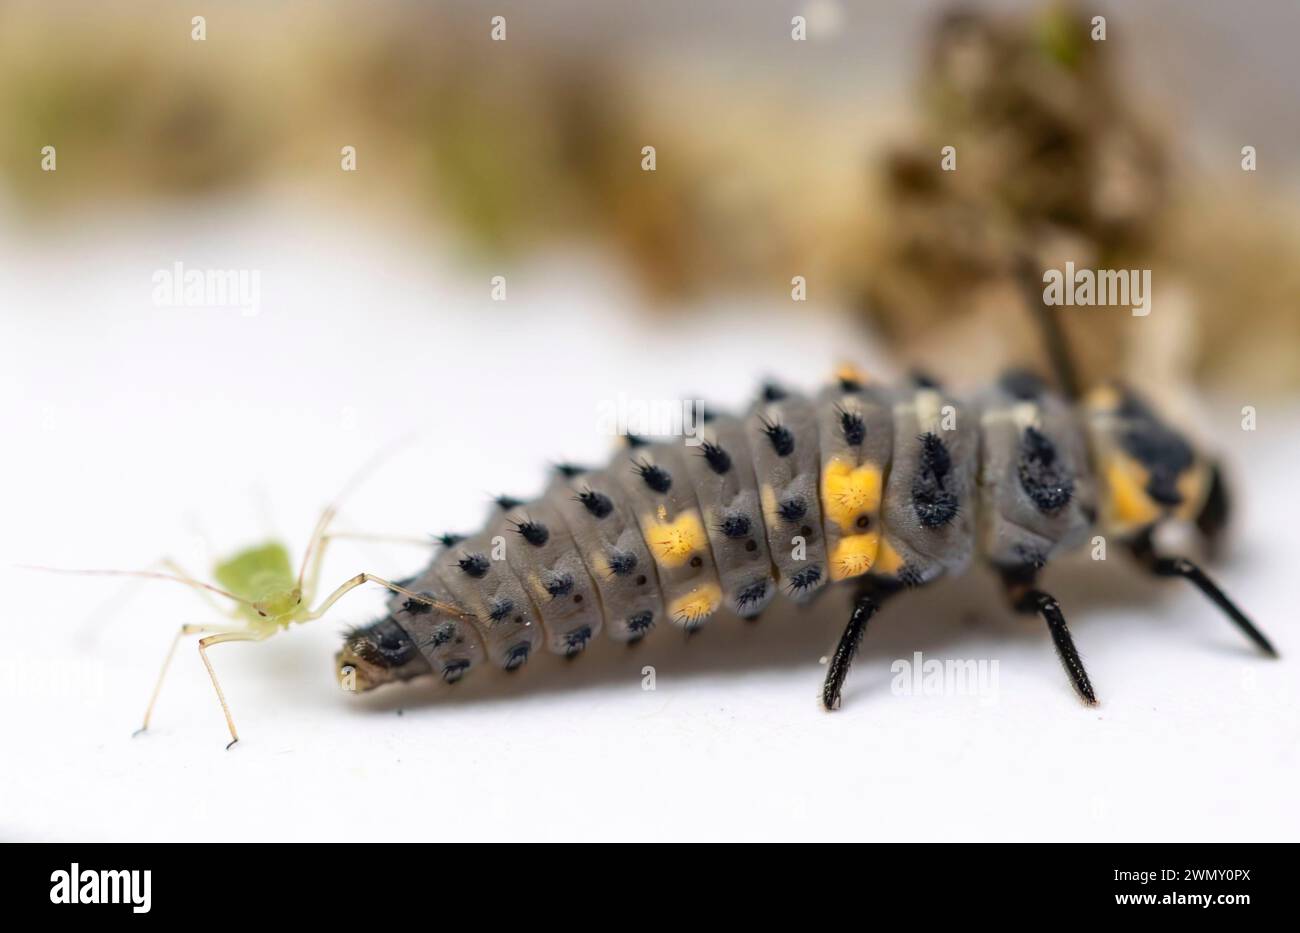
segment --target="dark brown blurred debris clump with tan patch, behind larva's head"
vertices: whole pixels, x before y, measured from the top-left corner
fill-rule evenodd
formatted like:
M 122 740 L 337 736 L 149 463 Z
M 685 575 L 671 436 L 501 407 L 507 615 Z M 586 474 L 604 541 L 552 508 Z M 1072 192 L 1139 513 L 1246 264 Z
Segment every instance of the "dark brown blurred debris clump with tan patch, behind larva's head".
M 937 21 L 915 133 L 875 170 L 859 307 L 905 355 L 987 372 L 1044 357 L 1026 299 L 1043 270 L 1150 269 L 1160 317 L 1054 309 L 1082 382 L 1294 386 L 1295 218 L 1258 198 L 1243 209 L 1175 165 L 1161 121 L 1132 103 L 1122 44 L 1095 42 L 1092 16 L 961 8 Z M 942 170 L 944 147 L 956 170 Z M 1261 359 L 1275 365 L 1260 372 Z

